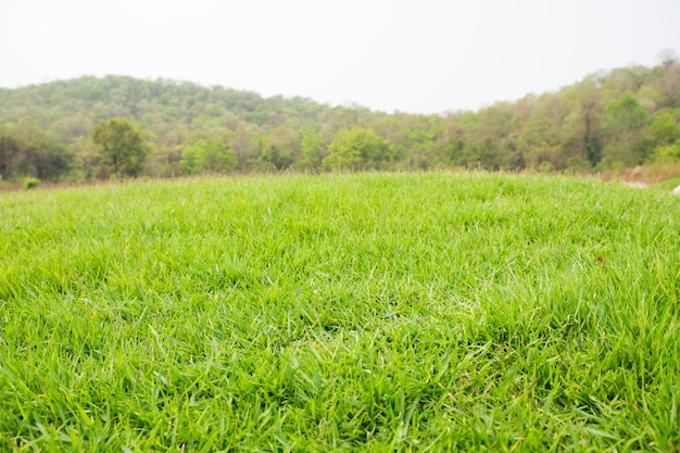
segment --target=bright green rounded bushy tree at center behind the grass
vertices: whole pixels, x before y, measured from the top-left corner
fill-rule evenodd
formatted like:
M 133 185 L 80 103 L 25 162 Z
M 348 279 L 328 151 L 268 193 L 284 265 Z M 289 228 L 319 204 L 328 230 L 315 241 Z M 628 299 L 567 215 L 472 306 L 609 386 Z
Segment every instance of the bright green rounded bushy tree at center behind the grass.
M 380 169 L 393 163 L 394 148 L 373 129 L 341 129 L 328 146 L 324 168 L 333 171 Z

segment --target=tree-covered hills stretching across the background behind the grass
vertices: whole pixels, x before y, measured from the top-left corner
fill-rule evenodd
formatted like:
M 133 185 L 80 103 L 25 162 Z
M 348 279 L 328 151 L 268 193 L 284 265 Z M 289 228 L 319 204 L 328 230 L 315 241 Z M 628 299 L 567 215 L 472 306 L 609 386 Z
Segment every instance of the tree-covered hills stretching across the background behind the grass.
M 124 118 L 144 143 L 140 165 L 122 176 L 677 165 L 680 64 L 601 72 L 555 92 L 442 115 L 122 76 L 0 89 L 0 176 L 78 181 L 121 173 L 92 134 L 111 118 Z

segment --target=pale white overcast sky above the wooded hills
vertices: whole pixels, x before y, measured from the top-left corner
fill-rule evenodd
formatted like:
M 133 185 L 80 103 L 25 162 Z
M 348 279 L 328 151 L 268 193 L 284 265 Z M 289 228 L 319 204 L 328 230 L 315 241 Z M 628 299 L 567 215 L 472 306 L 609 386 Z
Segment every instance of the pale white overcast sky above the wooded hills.
M 0 86 L 172 78 L 476 110 L 680 53 L 680 0 L 0 0 Z

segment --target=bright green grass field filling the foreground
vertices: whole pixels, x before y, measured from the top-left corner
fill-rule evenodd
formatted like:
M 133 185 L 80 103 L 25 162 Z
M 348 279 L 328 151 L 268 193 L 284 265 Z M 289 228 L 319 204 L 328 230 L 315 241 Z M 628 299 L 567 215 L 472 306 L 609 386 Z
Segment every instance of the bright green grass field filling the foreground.
M 0 451 L 677 451 L 679 280 L 589 180 L 0 193 Z

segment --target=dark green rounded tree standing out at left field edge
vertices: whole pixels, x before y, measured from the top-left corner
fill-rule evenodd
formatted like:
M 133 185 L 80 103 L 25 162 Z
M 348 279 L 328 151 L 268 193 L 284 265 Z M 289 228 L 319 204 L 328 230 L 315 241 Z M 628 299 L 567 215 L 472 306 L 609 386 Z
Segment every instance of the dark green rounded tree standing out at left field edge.
M 144 166 L 149 147 L 141 131 L 125 118 L 103 121 L 92 129 L 92 141 L 99 147 L 106 171 L 118 176 L 138 176 Z

